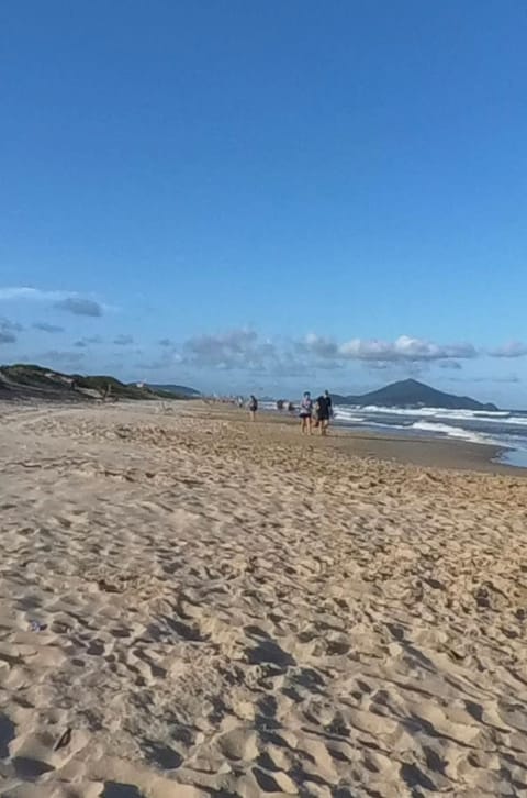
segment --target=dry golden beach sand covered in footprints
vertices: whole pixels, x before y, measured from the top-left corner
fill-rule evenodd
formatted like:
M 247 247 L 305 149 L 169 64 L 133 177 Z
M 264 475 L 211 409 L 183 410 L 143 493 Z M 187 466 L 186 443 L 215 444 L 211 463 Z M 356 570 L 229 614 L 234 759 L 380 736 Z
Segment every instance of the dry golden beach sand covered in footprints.
M 520 473 L 198 403 L 0 422 L 0 795 L 525 794 Z

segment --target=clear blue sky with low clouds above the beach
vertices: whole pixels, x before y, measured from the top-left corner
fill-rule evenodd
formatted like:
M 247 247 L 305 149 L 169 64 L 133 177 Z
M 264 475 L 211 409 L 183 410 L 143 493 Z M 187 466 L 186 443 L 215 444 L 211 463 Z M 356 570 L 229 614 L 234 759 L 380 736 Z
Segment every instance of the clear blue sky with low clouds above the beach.
M 527 408 L 527 3 L 0 4 L 0 362 Z

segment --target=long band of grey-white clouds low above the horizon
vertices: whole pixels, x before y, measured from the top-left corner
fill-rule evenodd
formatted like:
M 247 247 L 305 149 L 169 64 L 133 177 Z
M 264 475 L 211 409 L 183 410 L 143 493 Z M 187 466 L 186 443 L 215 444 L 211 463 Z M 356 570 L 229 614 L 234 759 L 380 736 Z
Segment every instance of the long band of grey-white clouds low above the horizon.
M 238 380 L 246 375 L 280 383 L 282 379 L 314 378 L 334 372 L 343 383 L 350 378 L 349 369 L 357 367 L 370 376 L 375 372 L 419 375 L 437 367 L 437 378 L 442 373 L 445 379 L 456 381 L 463 378 L 453 375 L 459 375 L 469 363 L 527 357 L 527 344 L 519 341 L 493 347 L 466 341 L 438 343 L 411 335 L 400 335 L 393 341 L 360 336 L 337 341 L 314 332 L 303 336 L 265 336 L 247 326 L 190 334 L 179 340 L 170 334 L 150 337 L 148 331 L 141 329 L 115 331 L 112 328 L 115 320 L 111 323 L 105 313 L 111 306 L 77 291 L 0 288 L 0 303 L 12 304 L 14 310 L 24 307 L 25 318 L 29 308 L 31 318 L 26 324 L 19 321 L 15 312 L 12 313 L 14 318 L 0 318 L 2 359 L 25 359 L 52 367 L 82 367 L 85 370 L 112 369 L 131 378 L 148 373 L 154 375 L 153 379 L 169 380 L 184 373 L 197 378 L 201 375 L 213 381 L 217 375 L 232 374 Z M 32 308 L 35 309 L 35 319 L 32 318 Z M 42 320 L 43 310 L 52 315 L 49 321 Z M 65 312 L 78 319 L 72 322 L 72 329 L 57 323 Z M 88 324 L 83 329 L 91 332 L 79 336 L 79 324 Z M 166 332 L 170 333 L 170 330 Z M 60 345 L 42 347 L 43 335 L 53 335 L 56 344 L 59 342 Z M 517 375 L 503 374 L 487 378 L 474 374 L 471 379 L 474 383 L 481 379 L 519 381 Z

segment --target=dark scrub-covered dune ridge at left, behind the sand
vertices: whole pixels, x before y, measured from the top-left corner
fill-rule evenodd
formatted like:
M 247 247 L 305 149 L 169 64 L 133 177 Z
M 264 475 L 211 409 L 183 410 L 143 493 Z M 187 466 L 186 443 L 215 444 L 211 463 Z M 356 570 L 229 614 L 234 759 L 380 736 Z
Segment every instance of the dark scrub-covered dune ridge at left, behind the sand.
M 187 389 L 192 391 L 191 388 Z M 0 366 L 0 399 L 43 401 L 93 401 L 104 399 L 188 398 L 183 391 L 154 390 L 148 386 L 126 385 L 105 375 L 63 374 L 34 364 Z

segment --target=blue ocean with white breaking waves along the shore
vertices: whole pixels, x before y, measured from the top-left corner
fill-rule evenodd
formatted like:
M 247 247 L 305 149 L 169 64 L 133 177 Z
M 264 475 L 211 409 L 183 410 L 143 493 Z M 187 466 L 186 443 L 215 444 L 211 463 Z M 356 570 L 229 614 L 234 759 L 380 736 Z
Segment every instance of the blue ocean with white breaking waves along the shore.
M 451 437 L 503 447 L 500 462 L 527 467 L 527 412 L 335 406 L 335 422 L 422 437 Z

